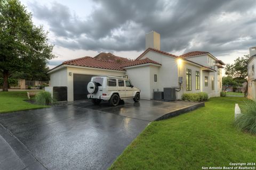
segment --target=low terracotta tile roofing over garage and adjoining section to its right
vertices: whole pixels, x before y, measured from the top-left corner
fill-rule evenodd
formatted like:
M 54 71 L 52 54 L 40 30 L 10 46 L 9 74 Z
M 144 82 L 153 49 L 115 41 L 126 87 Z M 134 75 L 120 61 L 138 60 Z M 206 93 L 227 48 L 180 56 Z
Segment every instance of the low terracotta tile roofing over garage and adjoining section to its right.
M 117 63 L 117 62 L 99 60 L 93 57 L 76 58 L 74 60 L 65 61 L 61 65 L 67 64 L 67 65 L 77 65 L 77 66 L 84 66 L 84 67 L 94 67 L 98 69 L 124 71 L 123 67 L 147 64 L 147 63 L 161 65 L 153 60 L 150 60 L 149 58 L 145 58 L 143 60 L 138 60 L 138 61 L 126 62 L 126 63 Z

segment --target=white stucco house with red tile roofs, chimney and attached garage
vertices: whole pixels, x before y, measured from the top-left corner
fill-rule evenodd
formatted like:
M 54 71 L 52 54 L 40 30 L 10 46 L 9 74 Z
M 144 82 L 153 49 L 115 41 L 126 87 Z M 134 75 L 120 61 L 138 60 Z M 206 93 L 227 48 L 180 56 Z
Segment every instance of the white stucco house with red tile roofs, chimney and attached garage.
M 146 34 L 146 50 L 134 61 L 116 62 L 82 57 L 54 67 L 50 74 L 50 88 L 62 87 L 67 100 L 85 99 L 87 83 L 93 75 L 113 75 L 129 78 L 141 89 L 141 98 L 152 99 L 154 91 L 176 88 L 177 99 L 182 94 L 207 92 L 220 96 L 222 89 L 222 61 L 209 52 L 189 52 L 180 56 L 160 50 L 160 35 Z M 102 58 L 101 58 L 102 59 Z

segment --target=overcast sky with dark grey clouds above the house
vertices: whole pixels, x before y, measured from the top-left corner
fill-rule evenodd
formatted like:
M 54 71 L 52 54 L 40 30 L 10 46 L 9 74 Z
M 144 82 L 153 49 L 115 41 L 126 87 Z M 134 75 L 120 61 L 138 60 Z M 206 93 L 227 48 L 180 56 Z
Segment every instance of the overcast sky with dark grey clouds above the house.
M 50 67 L 110 52 L 136 58 L 145 33 L 161 34 L 161 50 L 181 55 L 208 51 L 225 63 L 256 46 L 254 0 L 21 0 L 36 25 L 49 31 L 58 56 Z

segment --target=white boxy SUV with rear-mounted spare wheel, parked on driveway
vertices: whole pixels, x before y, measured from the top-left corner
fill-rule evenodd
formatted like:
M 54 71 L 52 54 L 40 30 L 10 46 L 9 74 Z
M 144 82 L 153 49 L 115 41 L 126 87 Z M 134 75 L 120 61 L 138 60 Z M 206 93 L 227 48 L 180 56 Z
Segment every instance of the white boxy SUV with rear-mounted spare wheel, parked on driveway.
M 87 85 L 93 104 L 98 105 L 102 100 L 109 101 L 111 106 L 117 106 L 123 99 L 133 98 L 140 101 L 140 89 L 133 87 L 129 79 L 112 76 L 94 76 Z

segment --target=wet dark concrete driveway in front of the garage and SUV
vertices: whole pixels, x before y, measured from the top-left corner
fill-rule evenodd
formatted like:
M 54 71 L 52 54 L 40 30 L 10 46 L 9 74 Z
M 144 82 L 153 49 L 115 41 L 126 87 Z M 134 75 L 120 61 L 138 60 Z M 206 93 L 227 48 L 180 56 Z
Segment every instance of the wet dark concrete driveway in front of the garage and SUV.
M 194 106 L 195 103 L 182 101 L 127 100 L 124 105 L 109 107 L 107 103 L 94 106 L 80 101 L 0 114 L 4 127 L 0 134 L 5 142 L 16 154 L 19 152 L 15 150 L 21 148 L 26 152 L 14 156 L 20 159 L 17 165 L 5 160 L 2 163 L 6 165 L 2 166 L 17 167 L 21 162 L 20 169 L 107 169 L 151 121 L 170 111 Z M 13 136 L 9 137 L 6 131 Z

